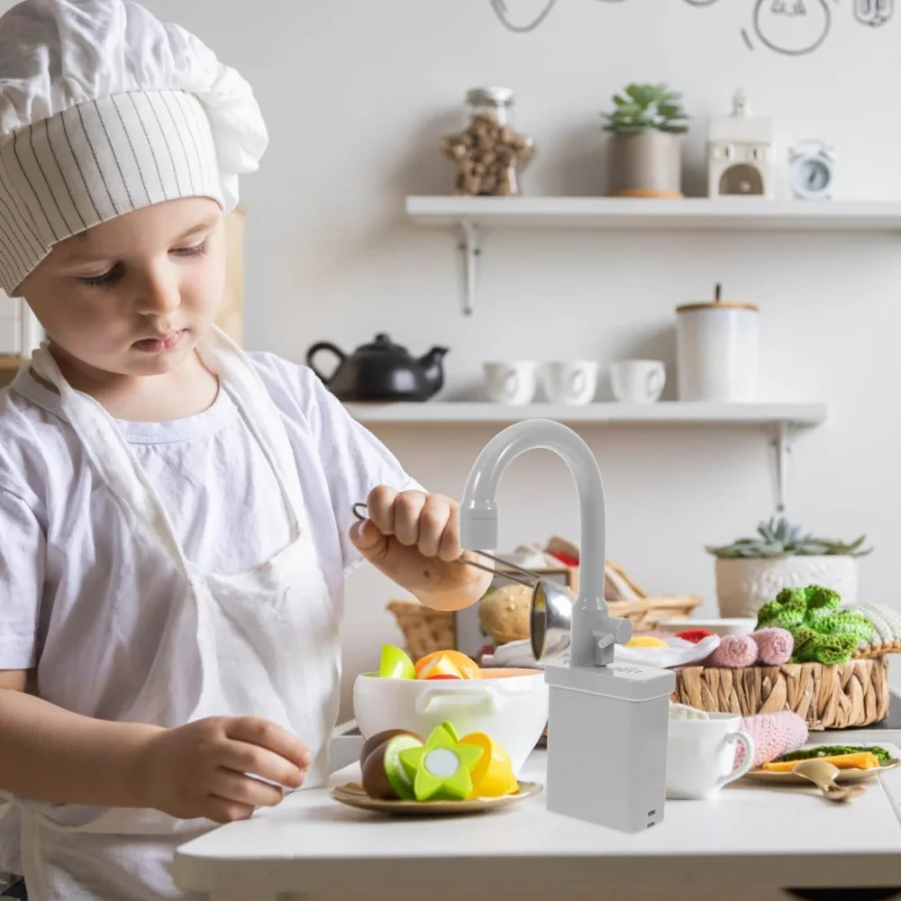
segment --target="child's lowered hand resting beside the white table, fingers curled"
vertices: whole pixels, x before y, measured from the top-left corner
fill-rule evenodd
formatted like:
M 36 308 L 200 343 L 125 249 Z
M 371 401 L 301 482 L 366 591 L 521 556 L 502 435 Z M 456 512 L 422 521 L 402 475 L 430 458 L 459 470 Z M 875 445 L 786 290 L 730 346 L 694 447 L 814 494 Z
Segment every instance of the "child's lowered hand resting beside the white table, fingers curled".
M 179 819 L 230 823 L 247 819 L 255 807 L 277 805 L 280 786 L 299 787 L 310 763 L 305 744 L 277 724 L 212 716 L 156 734 L 137 778 L 148 795 L 144 806 Z

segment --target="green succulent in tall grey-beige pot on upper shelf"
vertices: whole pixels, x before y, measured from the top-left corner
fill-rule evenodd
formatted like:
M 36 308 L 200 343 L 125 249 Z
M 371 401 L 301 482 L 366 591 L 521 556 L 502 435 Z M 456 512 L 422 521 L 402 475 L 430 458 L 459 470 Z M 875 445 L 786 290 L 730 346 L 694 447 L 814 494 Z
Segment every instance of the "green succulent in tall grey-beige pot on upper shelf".
M 666 85 L 628 85 L 603 113 L 610 138 L 610 194 L 682 196 L 682 96 Z

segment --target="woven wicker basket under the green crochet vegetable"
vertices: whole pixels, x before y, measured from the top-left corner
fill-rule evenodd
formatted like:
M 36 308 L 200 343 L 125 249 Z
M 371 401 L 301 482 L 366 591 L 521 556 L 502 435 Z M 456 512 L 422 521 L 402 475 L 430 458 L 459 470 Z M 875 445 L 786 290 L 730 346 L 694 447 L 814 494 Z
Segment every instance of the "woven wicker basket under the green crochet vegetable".
M 813 731 L 869 726 L 888 716 L 888 658 L 849 660 L 835 667 L 686 667 L 678 671 L 671 697 L 711 713 L 751 716 L 791 710 Z

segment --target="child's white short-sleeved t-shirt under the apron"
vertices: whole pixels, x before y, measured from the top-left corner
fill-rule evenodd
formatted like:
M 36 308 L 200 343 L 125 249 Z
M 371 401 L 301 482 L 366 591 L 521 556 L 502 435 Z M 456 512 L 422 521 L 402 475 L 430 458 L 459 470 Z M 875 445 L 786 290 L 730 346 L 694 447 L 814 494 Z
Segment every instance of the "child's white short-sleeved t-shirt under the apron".
M 380 484 L 419 486 L 311 369 L 268 353 L 248 357 L 287 430 L 340 611 L 344 577 L 361 562 L 348 538 L 352 505 Z M 41 697 L 115 720 L 140 689 L 164 624 L 148 592 L 166 587 L 138 584 L 130 561 L 140 548 L 75 433 L 52 412 L 58 396 L 27 370 L 18 378 L 41 404 L 0 391 L 0 669 L 37 667 Z M 247 571 L 287 544 L 278 482 L 228 392 L 186 419 L 118 425 L 196 567 Z M 17 863 L 12 819 L 0 825 L 0 869 Z

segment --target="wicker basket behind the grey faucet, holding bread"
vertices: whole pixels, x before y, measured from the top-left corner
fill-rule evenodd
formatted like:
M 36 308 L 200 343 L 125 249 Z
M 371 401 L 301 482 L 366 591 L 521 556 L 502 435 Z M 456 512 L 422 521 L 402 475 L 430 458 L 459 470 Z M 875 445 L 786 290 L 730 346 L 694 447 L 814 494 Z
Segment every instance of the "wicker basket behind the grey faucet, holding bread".
M 635 632 L 648 632 L 664 620 L 691 615 L 701 603 L 693 595 L 672 597 L 642 597 L 630 601 L 611 601 L 610 613 L 623 616 L 633 623 Z M 406 651 L 414 660 L 455 647 L 454 615 L 432 610 L 418 601 L 392 601 L 387 609 L 395 615 L 397 625 L 404 633 Z M 523 639 L 528 638 L 523 635 Z

